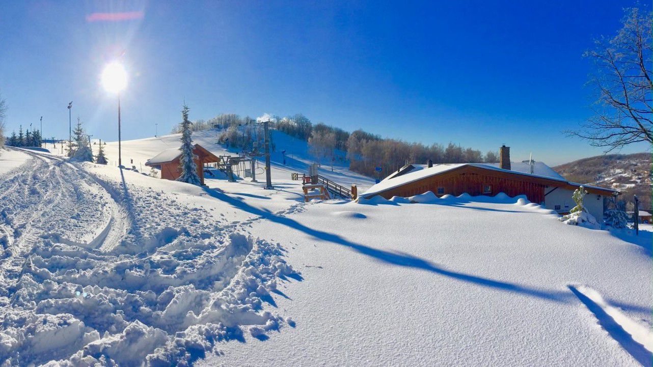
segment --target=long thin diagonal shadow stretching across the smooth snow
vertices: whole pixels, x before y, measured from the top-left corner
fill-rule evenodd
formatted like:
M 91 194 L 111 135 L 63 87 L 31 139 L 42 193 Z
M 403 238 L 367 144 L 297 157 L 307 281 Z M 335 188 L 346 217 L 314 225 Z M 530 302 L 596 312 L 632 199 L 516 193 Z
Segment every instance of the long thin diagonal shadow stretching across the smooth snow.
M 231 204 L 234 208 L 244 210 L 251 214 L 259 215 L 262 219 L 266 219 L 274 223 L 279 223 L 289 228 L 296 229 L 297 231 L 304 232 L 317 240 L 332 242 L 334 244 L 339 244 L 341 246 L 349 247 L 357 251 L 358 253 L 362 253 L 363 255 L 373 257 L 377 261 L 381 261 L 383 263 L 426 270 L 428 272 L 432 272 L 442 276 L 448 276 L 450 278 L 454 278 L 459 281 L 466 281 L 468 283 L 474 283 L 476 285 L 481 285 L 483 287 L 490 287 L 493 289 L 500 289 L 502 291 L 521 293 L 524 295 L 543 298 L 545 300 L 550 300 L 554 302 L 569 302 L 569 300 L 572 298 L 572 295 L 565 291 L 541 291 L 539 289 L 533 289 L 530 287 L 517 285 L 515 283 L 497 281 L 494 279 L 488 279 L 479 276 L 473 276 L 470 274 L 464 274 L 462 272 L 445 270 L 443 268 L 439 268 L 438 266 L 436 266 L 436 264 L 433 264 L 430 261 L 421 259 L 420 257 L 409 255 L 407 253 L 402 253 L 399 251 L 396 252 L 384 251 L 381 249 L 375 249 L 374 247 L 357 244 L 355 242 L 346 240 L 345 238 L 342 238 L 337 234 L 332 234 L 329 232 L 319 231 L 317 229 L 306 227 L 305 225 L 302 225 L 301 223 L 298 223 L 297 221 L 290 219 L 288 217 L 281 217 L 267 210 L 261 210 L 259 208 L 255 208 L 247 204 L 246 202 L 234 199 L 229 195 L 225 195 L 224 193 L 219 193 L 215 190 L 208 189 L 206 187 L 204 187 L 203 189 L 208 195 L 214 197 L 215 199 L 221 200 L 223 202 L 227 202 Z

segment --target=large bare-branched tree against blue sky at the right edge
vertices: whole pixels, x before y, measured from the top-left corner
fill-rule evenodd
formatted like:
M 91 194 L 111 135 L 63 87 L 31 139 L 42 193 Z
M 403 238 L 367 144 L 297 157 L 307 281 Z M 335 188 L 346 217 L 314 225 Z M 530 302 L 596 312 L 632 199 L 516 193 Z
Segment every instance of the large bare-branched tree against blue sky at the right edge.
M 652 13 L 642 14 L 638 8 L 625 11 L 624 27 L 617 35 L 596 40 L 594 50 L 584 54 L 596 65 L 589 81 L 598 94 L 595 114 L 582 123 L 581 130 L 567 131 L 605 148 L 606 153 L 636 142 L 653 143 Z

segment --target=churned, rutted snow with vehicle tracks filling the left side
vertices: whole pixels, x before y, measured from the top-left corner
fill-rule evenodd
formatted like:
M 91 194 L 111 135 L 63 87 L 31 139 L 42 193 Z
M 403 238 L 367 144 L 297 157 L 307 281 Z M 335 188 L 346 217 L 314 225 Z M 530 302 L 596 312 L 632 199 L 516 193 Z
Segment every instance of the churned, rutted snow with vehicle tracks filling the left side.
M 32 158 L 0 181 L 3 366 L 193 362 L 285 323 L 263 302 L 278 279 L 300 278 L 279 244 L 246 236 L 263 217 L 227 223 L 22 151 Z

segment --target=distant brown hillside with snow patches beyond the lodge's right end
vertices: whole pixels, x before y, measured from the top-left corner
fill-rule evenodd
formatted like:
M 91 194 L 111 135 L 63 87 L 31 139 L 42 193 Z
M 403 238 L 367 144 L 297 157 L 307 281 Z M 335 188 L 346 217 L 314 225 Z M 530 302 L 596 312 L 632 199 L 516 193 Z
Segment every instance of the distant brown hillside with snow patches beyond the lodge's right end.
M 642 209 L 651 209 L 651 154 L 607 154 L 579 159 L 554 167 L 573 182 L 611 187 L 632 205 L 633 195 L 641 199 Z

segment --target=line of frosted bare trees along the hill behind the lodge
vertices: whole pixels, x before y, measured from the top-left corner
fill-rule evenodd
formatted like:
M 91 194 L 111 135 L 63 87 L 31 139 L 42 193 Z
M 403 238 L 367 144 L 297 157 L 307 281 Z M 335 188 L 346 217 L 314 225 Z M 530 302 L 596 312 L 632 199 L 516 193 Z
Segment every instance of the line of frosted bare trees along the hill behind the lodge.
M 273 116 L 272 129 L 308 142 L 309 153 L 316 163 L 349 161 L 349 168 L 367 176 L 387 176 L 406 163 L 482 163 L 498 162 L 496 152 L 464 148 L 449 142 L 424 145 L 404 140 L 382 138 L 379 135 L 357 130 L 349 133 L 325 123 L 313 124 L 303 114 L 281 118 Z M 263 145 L 263 129 L 253 118 L 236 114 L 220 114 L 208 121 L 193 121 L 191 130 L 223 129 L 218 141 L 232 148 L 253 150 Z M 173 133 L 180 132 L 175 127 Z M 274 142 L 271 142 L 274 150 Z M 379 168 L 381 169 L 379 171 Z M 380 173 L 379 173 L 380 172 Z

